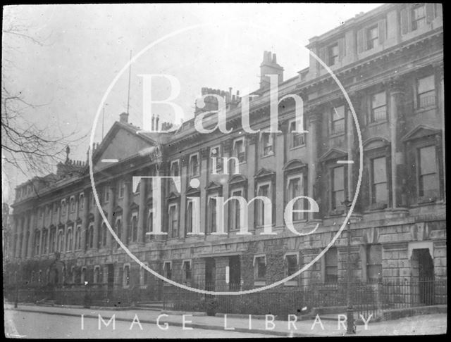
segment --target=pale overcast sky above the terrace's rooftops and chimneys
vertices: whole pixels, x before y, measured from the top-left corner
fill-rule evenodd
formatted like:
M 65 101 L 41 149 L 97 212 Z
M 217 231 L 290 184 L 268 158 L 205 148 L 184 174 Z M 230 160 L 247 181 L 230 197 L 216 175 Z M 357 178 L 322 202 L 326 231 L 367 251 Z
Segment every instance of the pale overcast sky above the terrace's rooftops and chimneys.
M 8 73 L 8 87 L 23 91 L 29 103 L 39 104 L 28 120 L 76 132 L 82 137 L 92 129 L 99 103 L 114 77 L 132 55 L 156 39 L 198 24 L 204 27 L 169 37 L 147 49 L 132 63 L 130 122 L 142 127 L 142 74 L 169 74 L 180 80 L 175 101 L 185 120 L 192 117 L 194 100 L 202 87 L 233 92 L 259 85 L 263 51 L 277 53 L 285 79 L 307 68 L 309 38 L 338 27 L 345 20 L 380 4 L 112 4 L 27 5 L 4 8 L 4 20 L 25 25 L 28 34 L 42 42 L 6 37 L 14 49 L 15 68 Z M 233 23 L 230 23 L 233 21 Z M 249 24 L 249 25 L 247 25 Z M 264 27 L 266 31 L 257 27 Z M 3 78 L 2 78 L 3 80 Z M 155 99 L 168 96 L 168 82 L 156 83 Z M 128 70 L 106 99 L 105 133 L 128 102 Z M 166 93 L 164 93 L 166 91 Z M 168 108 L 156 113 L 168 115 Z M 101 139 L 101 120 L 96 141 Z M 86 159 L 89 137 L 71 147 L 70 157 Z M 32 176 L 32 175 L 30 175 Z M 13 187 L 25 181 L 8 172 L 2 184 Z M 5 183 L 7 182 L 7 183 Z M 10 188 L 11 189 L 11 188 Z M 3 201 L 10 201 L 4 192 Z M 11 196 L 9 196 L 11 197 Z

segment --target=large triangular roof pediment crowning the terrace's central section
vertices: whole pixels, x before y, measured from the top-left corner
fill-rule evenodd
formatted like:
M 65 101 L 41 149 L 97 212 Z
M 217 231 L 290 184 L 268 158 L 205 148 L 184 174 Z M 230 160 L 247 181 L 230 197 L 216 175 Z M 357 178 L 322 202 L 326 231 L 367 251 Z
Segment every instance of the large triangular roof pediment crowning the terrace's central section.
M 101 144 L 94 151 L 94 172 L 113 163 L 137 156 L 155 153 L 158 144 L 144 134 L 137 134 L 137 127 L 115 122 Z M 115 162 L 117 160 L 117 162 Z

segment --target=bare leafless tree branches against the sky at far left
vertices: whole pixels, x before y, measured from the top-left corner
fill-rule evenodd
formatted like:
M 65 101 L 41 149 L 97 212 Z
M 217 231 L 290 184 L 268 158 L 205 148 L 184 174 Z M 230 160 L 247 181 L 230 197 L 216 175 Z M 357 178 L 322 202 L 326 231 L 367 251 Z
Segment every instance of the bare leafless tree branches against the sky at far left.
M 63 158 L 66 146 L 84 137 L 70 139 L 74 132 L 64 134 L 58 125 L 41 127 L 29 120 L 39 107 L 46 104 L 29 103 L 24 90 L 11 86 L 11 75 L 20 67 L 15 56 L 26 53 L 23 46 L 36 44 L 48 46 L 49 37 L 39 37 L 29 24 L 20 18 L 20 8 L 4 8 L 2 27 L 2 87 L 1 87 L 1 157 L 2 173 L 8 170 L 21 172 L 25 177 L 43 176 L 51 172 Z M 6 11 L 7 10 L 7 11 Z M 24 51 L 25 50 L 25 51 Z M 85 136 L 86 137 L 86 136 Z M 14 172 L 14 171 L 13 171 Z

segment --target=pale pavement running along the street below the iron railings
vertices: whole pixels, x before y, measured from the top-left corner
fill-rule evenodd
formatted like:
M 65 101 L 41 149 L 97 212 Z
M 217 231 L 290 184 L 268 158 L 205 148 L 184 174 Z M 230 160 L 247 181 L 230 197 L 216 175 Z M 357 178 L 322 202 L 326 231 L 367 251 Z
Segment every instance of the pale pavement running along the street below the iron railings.
M 87 308 L 66 308 L 62 305 L 52 307 L 38 305 L 19 304 L 18 308 L 14 308 L 11 303 L 4 303 L 5 310 L 18 310 L 22 312 L 40 312 L 47 315 L 82 317 L 84 319 L 101 319 L 109 322 L 114 315 L 118 322 L 128 322 L 129 327 L 140 323 L 154 324 L 155 327 L 163 327 L 168 324 L 169 327 L 183 327 L 207 330 L 234 331 L 249 334 L 262 334 L 266 336 L 344 336 L 345 322 L 344 317 L 331 320 L 321 319 L 321 315 L 316 319 L 295 321 L 293 315 L 292 322 L 273 320 L 268 317 L 266 320 L 258 319 L 257 316 L 248 318 L 238 317 L 211 317 L 211 316 L 194 316 L 194 315 L 174 315 L 170 313 L 161 313 L 152 310 L 104 310 L 104 309 L 87 309 Z M 101 319 L 99 318 L 101 317 Z M 338 317 L 339 318 L 339 317 Z M 185 320 L 185 323 L 183 322 Z M 446 334 L 447 332 L 447 315 L 431 314 L 414 317 L 405 317 L 384 322 L 371 322 L 368 324 L 357 326 L 357 336 L 388 336 L 388 335 L 428 335 L 428 334 Z M 99 323 L 100 324 L 100 323 Z M 106 329 L 106 327 L 104 328 Z

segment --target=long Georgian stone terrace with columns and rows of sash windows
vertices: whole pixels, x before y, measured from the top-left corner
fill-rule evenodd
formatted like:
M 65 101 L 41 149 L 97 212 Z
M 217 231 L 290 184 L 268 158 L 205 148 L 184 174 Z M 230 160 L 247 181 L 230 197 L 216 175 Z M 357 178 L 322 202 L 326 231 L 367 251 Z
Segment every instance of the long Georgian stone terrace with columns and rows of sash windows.
M 353 277 L 446 277 L 441 5 L 383 5 L 311 38 L 307 47 L 342 82 L 361 128 L 364 168 L 351 219 Z M 280 98 L 302 97 L 309 133 L 292 132 L 292 99 L 279 103 L 280 133 L 249 134 L 241 125 L 240 96 L 204 88 L 203 95 L 226 98 L 232 133 L 200 134 L 189 120 L 173 134 L 137 134 L 139 127 L 123 113 L 93 146 L 94 179 L 111 227 L 132 253 L 165 277 L 211 290 L 271 284 L 313 260 L 345 218 L 342 202 L 353 198 L 359 174 L 357 130 L 345 97 L 313 57 L 288 80 L 276 54 L 265 51 L 260 68 L 260 87 L 253 93 L 257 97 L 250 101 L 252 128 L 269 127 L 265 75 L 276 74 Z M 206 101 L 195 115 L 215 106 Z M 160 127 L 158 119 L 152 121 Z M 215 115 L 204 120 L 205 127 L 215 125 Z M 152 146 L 152 153 L 142 153 Z M 102 162 L 106 159 L 118 163 Z M 167 179 L 162 182 L 159 208 L 154 208 L 149 179 L 132 181 L 134 176 L 156 175 L 181 177 L 180 189 Z M 319 213 L 293 213 L 295 229 L 309 232 L 316 224 L 319 228 L 314 234 L 295 236 L 285 227 L 283 214 L 288 201 L 302 195 L 314 198 Z M 277 234 L 261 235 L 268 208 L 260 201 L 248 206 L 251 234 L 237 234 L 243 209 L 237 201 L 225 207 L 226 235 L 212 234 L 219 215 L 217 196 L 270 198 L 271 229 Z M 199 197 L 199 217 L 193 197 Z M 87 163 L 68 158 L 58 165 L 56 175 L 18 186 L 12 207 L 11 257 L 21 267 L 32 262 L 27 274 L 32 284 L 88 281 L 109 289 L 161 289 L 162 282 L 132 261 L 106 229 L 93 201 Z M 156 210 L 161 210 L 166 236 L 146 234 L 154 229 Z M 203 236 L 188 234 L 193 215 Z M 285 286 L 342 279 L 346 243 L 344 232 L 323 258 Z

